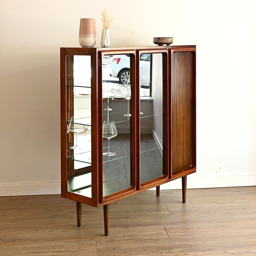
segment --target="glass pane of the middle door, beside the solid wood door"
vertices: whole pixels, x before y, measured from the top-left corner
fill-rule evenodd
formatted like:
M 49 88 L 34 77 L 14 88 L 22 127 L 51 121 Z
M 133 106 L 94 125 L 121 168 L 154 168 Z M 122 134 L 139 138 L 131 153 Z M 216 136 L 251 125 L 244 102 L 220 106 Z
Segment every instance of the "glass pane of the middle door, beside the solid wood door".
M 140 183 L 164 176 L 163 55 L 141 54 L 140 81 Z M 147 93 L 150 97 L 146 97 Z

